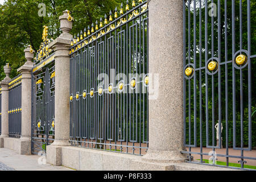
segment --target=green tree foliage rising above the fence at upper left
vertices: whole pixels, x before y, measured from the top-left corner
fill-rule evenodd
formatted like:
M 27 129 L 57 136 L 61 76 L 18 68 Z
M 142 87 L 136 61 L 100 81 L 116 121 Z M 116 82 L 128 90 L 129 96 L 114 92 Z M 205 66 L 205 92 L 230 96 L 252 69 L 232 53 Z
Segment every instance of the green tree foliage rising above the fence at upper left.
M 46 16 L 39 16 L 38 11 L 46 5 Z M 92 23 L 99 21 L 100 17 L 109 15 L 110 10 L 125 0 L 8 0 L 0 5 L 0 79 L 5 77 L 3 65 L 10 63 L 11 77 L 18 73 L 16 69 L 26 62 L 24 48 L 31 45 L 39 49 L 42 42 L 43 26 L 49 27 L 49 37 L 55 39 L 60 35 L 59 16 L 64 10 L 72 13 L 75 22 L 71 34 L 77 34 Z M 131 5 L 131 1 L 129 1 Z

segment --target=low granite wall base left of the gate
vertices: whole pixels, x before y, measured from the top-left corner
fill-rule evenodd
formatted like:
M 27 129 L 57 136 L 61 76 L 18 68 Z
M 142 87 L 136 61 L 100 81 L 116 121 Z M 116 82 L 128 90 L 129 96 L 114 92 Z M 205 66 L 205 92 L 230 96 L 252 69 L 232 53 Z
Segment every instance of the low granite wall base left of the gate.
M 31 155 L 31 140 L 20 140 L 19 138 L 2 138 L 0 147 L 17 151 L 19 155 Z

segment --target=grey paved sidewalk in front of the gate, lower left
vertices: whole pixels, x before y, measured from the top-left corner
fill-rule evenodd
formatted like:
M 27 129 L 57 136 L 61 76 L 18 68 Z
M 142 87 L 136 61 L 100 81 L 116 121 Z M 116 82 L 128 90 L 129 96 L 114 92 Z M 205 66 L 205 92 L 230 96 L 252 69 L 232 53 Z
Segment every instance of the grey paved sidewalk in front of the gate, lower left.
M 39 164 L 38 155 L 19 155 L 18 152 L 0 148 L 0 171 L 73 171 L 63 166 Z

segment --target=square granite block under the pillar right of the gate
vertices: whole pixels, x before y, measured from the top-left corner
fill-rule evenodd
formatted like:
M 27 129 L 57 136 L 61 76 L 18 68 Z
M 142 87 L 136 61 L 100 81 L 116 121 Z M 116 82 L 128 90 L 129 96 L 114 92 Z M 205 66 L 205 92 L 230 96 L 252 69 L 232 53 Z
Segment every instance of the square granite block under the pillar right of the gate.
M 46 162 L 53 166 L 61 166 L 61 146 L 47 146 Z

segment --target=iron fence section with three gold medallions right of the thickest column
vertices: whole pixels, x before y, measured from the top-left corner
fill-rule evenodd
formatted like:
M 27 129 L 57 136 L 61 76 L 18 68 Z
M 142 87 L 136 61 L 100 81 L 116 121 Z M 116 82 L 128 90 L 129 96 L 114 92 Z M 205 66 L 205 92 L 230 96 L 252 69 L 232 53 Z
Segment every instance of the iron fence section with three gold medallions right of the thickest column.
M 256 22 L 251 10 L 255 13 L 250 0 L 184 1 L 184 153 L 189 162 L 255 166 L 251 24 Z

